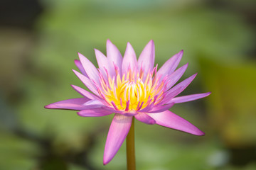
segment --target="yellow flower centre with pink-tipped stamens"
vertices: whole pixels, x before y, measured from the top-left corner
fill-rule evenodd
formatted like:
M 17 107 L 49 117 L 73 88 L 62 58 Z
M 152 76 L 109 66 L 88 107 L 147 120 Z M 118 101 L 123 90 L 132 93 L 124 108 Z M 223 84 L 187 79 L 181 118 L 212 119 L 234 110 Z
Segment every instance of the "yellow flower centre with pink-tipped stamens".
M 135 73 L 129 70 L 121 79 L 117 72 L 117 76 L 113 79 L 108 77 L 108 81 L 102 77 L 98 91 L 117 111 L 143 111 L 147 106 L 156 105 L 164 98 L 165 82 L 159 82 L 153 74 L 154 72 L 150 72 L 143 77 L 143 74 L 137 73 L 135 76 Z

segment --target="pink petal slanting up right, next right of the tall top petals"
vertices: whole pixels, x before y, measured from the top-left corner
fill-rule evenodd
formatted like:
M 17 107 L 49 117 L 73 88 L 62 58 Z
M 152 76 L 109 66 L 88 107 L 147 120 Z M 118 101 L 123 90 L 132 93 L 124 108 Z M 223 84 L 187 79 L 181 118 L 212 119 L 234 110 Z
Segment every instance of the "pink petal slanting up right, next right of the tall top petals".
M 178 52 L 176 55 L 171 57 L 164 65 L 159 69 L 157 75 L 164 77 L 165 75 L 170 75 L 174 70 L 178 67 L 178 63 L 181 61 L 181 57 L 183 55 L 183 50 Z

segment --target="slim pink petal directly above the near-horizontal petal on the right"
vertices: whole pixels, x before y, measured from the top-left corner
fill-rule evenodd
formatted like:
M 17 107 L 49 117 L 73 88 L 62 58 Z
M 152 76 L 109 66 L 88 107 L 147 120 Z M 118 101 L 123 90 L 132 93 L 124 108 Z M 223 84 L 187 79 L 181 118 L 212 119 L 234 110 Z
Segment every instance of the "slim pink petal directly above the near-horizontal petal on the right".
M 193 74 L 191 77 L 188 77 L 188 79 L 185 79 L 181 81 L 179 84 L 171 88 L 169 91 L 166 92 L 166 97 L 163 101 L 168 101 L 167 103 L 170 103 L 171 98 L 174 98 L 178 94 L 180 94 L 186 87 L 191 84 L 191 81 L 195 79 L 196 74 Z

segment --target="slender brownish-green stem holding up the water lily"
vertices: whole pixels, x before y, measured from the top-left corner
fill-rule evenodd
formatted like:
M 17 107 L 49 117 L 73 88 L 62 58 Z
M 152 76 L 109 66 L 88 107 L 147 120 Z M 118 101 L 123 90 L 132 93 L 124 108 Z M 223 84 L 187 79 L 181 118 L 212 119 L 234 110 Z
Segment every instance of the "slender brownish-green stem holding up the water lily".
M 136 170 L 134 147 L 134 117 L 132 118 L 132 125 L 127 135 L 127 170 Z

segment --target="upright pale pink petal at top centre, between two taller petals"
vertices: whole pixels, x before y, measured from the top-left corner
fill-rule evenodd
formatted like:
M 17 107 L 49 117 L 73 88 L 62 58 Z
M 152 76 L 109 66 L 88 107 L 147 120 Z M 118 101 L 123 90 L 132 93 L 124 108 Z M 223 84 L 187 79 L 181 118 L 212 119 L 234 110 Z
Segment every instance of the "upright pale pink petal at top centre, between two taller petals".
M 129 68 L 136 72 L 136 70 L 138 69 L 138 63 L 134 49 L 132 45 L 128 42 L 127 48 L 124 53 L 124 60 L 122 62 L 122 72 L 127 73 Z

